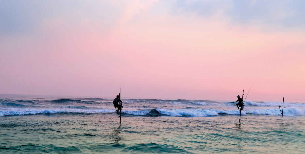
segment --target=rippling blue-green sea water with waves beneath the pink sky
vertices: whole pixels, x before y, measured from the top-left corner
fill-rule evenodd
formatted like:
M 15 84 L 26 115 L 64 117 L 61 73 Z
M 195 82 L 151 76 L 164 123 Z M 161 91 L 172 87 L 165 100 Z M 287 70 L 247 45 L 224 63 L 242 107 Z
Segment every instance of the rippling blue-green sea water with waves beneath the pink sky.
M 0 97 L 0 153 L 305 153 L 305 103 Z

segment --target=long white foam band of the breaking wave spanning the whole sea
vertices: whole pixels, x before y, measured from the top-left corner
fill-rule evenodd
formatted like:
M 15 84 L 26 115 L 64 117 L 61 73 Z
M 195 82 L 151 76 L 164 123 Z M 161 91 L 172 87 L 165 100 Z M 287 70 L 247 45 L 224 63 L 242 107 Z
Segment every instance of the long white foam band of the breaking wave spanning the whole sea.
M 152 110 L 155 110 L 163 115 L 170 116 L 213 116 L 219 114 L 239 115 L 238 110 L 217 110 L 217 109 L 146 109 L 146 110 L 122 110 L 122 113 L 131 115 L 146 115 Z M 85 109 L 19 109 L 19 108 L 0 108 L 0 116 L 4 115 L 30 115 L 30 114 L 53 114 L 62 112 L 74 113 L 110 113 L 116 112 L 109 109 L 98 110 L 85 110 Z M 246 114 L 261 114 L 261 115 L 281 115 L 279 109 L 256 109 L 256 110 L 243 110 L 242 115 Z M 285 116 L 299 116 L 305 115 L 305 110 L 296 107 L 289 107 L 284 109 Z

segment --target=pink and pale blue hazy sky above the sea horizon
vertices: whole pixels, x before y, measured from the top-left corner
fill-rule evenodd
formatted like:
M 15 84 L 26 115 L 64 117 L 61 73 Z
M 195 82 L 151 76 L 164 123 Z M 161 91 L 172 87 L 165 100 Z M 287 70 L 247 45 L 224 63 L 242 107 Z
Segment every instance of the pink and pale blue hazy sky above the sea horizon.
M 304 8 L 0 0 L 0 94 L 305 102 Z

